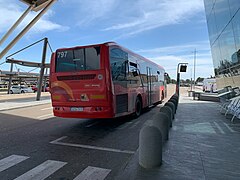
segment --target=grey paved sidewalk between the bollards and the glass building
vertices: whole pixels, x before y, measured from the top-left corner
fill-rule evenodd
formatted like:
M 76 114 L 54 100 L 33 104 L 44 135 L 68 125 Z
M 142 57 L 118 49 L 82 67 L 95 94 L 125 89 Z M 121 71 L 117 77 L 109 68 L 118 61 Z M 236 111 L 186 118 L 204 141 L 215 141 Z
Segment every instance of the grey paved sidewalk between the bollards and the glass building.
M 239 180 L 240 121 L 231 123 L 217 103 L 182 96 L 160 168 L 138 165 L 138 152 L 116 179 Z

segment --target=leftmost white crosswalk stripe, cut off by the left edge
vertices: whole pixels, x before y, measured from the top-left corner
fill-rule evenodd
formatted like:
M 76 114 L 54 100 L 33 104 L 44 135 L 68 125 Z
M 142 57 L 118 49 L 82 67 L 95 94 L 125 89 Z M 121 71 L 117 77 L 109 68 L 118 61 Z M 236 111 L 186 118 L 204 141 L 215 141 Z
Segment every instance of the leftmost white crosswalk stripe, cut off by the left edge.
M 11 155 L 0 160 L 0 172 L 28 159 L 27 156 Z

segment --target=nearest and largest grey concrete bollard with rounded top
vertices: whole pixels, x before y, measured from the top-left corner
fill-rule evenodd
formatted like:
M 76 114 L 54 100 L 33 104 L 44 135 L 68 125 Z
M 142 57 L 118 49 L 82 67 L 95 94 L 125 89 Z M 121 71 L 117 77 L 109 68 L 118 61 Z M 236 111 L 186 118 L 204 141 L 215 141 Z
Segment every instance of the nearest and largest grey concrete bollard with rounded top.
M 139 134 L 139 164 L 144 168 L 162 164 L 162 134 L 155 126 L 145 126 Z

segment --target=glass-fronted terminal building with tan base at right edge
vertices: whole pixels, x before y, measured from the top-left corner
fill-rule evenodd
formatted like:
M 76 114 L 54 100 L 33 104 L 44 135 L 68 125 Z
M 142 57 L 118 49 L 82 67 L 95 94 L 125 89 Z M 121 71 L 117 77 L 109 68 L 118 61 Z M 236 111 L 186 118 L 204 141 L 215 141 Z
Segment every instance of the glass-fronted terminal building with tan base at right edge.
M 240 87 L 240 0 L 204 0 L 217 88 Z

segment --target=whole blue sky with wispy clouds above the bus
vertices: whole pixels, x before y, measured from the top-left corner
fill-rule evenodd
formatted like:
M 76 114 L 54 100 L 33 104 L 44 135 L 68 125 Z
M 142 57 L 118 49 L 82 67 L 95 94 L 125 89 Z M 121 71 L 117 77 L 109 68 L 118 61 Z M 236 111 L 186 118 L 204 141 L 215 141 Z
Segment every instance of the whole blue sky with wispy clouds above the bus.
M 7 2 L 0 0 L 0 37 L 27 8 L 18 0 Z M 0 51 L 35 15 L 31 12 L 27 16 Z M 214 75 L 203 0 L 58 0 L 8 55 L 44 37 L 54 51 L 115 41 L 162 65 L 172 78 L 176 77 L 177 64 L 188 62 L 183 79 L 193 77 L 196 48 L 196 78 Z M 41 53 L 39 44 L 14 58 L 40 62 Z M 48 51 L 48 62 L 50 55 Z M 0 63 L 4 61 L 5 57 Z M 3 64 L 0 69 L 9 70 L 9 65 Z M 33 68 L 15 66 L 17 69 L 28 72 Z

